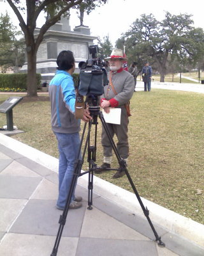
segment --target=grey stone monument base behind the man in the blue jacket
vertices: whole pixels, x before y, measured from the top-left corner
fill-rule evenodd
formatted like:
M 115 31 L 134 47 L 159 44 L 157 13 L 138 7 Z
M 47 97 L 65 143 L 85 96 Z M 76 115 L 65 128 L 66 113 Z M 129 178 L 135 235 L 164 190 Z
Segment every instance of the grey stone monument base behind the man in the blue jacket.
M 35 29 L 36 36 L 39 31 L 40 29 Z M 41 83 L 49 83 L 54 77 L 57 56 L 64 50 L 73 52 L 76 62 L 75 73 L 78 73 L 78 63 L 90 58 L 89 45 L 93 45 L 97 38 L 91 36 L 90 28 L 84 25 L 77 26 L 71 31 L 69 19 L 61 17 L 61 20 L 45 33 L 37 52 L 36 72 L 41 74 Z M 26 62 L 20 72 L 27 72 Z

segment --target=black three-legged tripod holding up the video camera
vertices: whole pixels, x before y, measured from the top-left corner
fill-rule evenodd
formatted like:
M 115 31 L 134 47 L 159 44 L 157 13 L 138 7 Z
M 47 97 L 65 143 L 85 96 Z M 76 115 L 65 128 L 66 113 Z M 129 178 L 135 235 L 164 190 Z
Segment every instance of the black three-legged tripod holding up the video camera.
M 59 230 L 57 232 L 57 237 L 55 239 L 55 244 L 54 244 L 54 248 L 52 250 L 52 254 L 50 256 L 56 256 L 57 255 L 57 250 L 59 247 L 59 243 L 61 240 L 61 236 L 62 236 L 62 231 L 64 228 L 64 225 L 66 223 L 66 217 L 68 215 L 68 209 L 69 209 L 69 204 L 71 202 L 71 195 L 73 193 L 73 190 L 75 189 L 75 184 L 77 182 L 77 178 L 79 176 L 82 176 L 86 173 L 89 173 L 89 184 L 88 184 L 88 207 L 87 209 L 91 210 L 92 209 L 92 189 L 93 189 L 93 176 L 94 176 L 94 170 L 97 170 L 99 167 L 97 166 L 96 162 L 96 137 L 97 137 L 97 125 L 98 125 L 98 116 L 99 119 L 101 120 L 101 123 L 106 131 L 106 134 L 112 144 L 113 147 L 113 151 L 115 152 L 115 156 L 117 157 L 117 160 L 119 162 L 119 169 L 108 169 L 108 170 L 119 170 L 120 172 L 125 172 L 126 176 L 128 177 L 129 183 L 131 184 L 131 187 L 133 188 L 133 191 L 135 192 L 136 198 L 138 198 L 138 201 L 142 207 L 143 213 L 145 214 L 147 220 L 149 221 L 149 225 L 152 228 L 152 231 L 154 232 L 154 236 L 156 237 L 156 241 L 160 246 L 165 246 L 165 244 L 161 241 L 161 237 L 158 236 L 152 221 L 149 218 L 149 210 L 147 209 L 147 207 L 145 208 L 142 200 L 140 198 L 140 195 L 138 194 L 138 191 L 135 188 L 135 185 L 133 183 L 133 180 L 131 179 L 129 172 L 126 168 L 126 162 L 124 161 L 124 159 L 122 159 L 119 155 L 119 152 L 117 150 L 117 147 L 115 146 L 115 143 L 112 139 L 112 137 L 110 136 L 110 132 L 108 131 L 108 127 L 106 125 L 105 119 L 103 117 L 103 113 L 100 111 L 100 107 L 99 106 L 93 106 L 93 107 L 89 107 L 89 111 L 91 113 L 92 116 L 92 120 L 89 121 L 89 129 L 87 132 L 87 138 L 85 140 L 85 146 L 84 146 L 84 152 L 82 154 L 82 159 L 80 159 L 80 150 L 82 148 L 82 143 L 84 141 L 84 135 L 85 135 L 85 130 L 87 127 L 87 123 L 85 123 L 84 125 L 84 130 L 82 132 L 82 139 L 80 142 L 80 150 L 78 152 L 78 159 L 75 163 L 75 171 L 74 171 L 74 175 L 73 175 L 73 179 L 71 181 L 71 188 L 69 189 L 69 193 L 68 193 L 68 198 L 66 200 L 66 205 L 64 208 L 64 211 L 62 212 L 62 215 L 59 218 Z M 90 134 L 91 134 L 91 127 L 92 124 L 96 125 L 95 127 L 95 137 L 94 137 L 94 146 L 90 145 Z M 87 149 L 88 147 L 88 149 Z M 87 157 L 87 161 L 89 162 L 89 170 L 87 172 L 83 172 L 81 173 L 82 170 L 82 165 L 84 163 L 84 157 L 85 157 L 85 152 L 86 150 L 88 150 L 88 157 Z

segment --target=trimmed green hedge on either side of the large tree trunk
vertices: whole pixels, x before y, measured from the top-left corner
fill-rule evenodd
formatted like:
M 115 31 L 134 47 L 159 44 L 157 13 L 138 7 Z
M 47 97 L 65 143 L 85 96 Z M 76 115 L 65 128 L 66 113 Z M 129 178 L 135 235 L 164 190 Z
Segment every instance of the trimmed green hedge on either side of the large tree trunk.
M 37 84 L 40 86 L 41 74 L 36 74 Z M 27 74 L 14 73 L 14 74 L 0 74 L 0 88 L 22 89 L 27 90 Z

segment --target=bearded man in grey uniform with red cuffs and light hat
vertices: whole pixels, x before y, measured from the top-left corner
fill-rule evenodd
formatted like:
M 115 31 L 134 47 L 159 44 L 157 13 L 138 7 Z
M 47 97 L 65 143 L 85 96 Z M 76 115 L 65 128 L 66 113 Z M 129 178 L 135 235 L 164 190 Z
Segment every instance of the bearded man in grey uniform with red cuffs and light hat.
M 104 88 L 104 94 L 101 96 L 101 108 L 106 113 L 110 112 L 111 108 L 121 108 L 120 125 L 107 124 L 108 131 L 112 138 L 116 134 L 118 142 L 117 149 L 120 156 L 128 161 L 129 145 L 128 145 L 128 113 L 126 110 L 126 104 L 133 96 L 135 82 L 133 76 L 126 70 L 123 70 L 122 64 L 126 58 L 123 57 L 122 50 L 113 49 L 110 58 L 110 72 L 108 72 L 109 84 Z M 107 171 L 106 168 L 110 168 L 112 161 L 112 145 L 105 129 L 102 129 L 101 143 L 103 145 L 103 164 L 96 170 L 96 173 Z M 118 171 L 113 175 L 114 179 L 122 177 L 125 172 Z

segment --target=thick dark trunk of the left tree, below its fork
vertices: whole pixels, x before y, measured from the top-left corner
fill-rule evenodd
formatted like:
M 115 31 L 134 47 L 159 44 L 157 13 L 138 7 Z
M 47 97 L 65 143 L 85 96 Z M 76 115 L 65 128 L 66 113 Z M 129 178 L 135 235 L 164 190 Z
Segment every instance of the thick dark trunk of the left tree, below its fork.
M 36 52 L 27 52 L 27 96 L 36 97 L 37 79 L 36 79 Z

